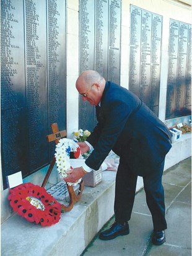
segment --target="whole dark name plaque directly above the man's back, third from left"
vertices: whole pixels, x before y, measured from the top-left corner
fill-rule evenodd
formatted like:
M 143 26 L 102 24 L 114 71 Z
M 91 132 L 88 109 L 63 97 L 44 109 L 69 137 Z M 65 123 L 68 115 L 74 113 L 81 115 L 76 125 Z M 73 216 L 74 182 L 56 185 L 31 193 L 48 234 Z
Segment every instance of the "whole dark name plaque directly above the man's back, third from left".
M 129 90 L 158 116 L 162 16 L 131 5 Z

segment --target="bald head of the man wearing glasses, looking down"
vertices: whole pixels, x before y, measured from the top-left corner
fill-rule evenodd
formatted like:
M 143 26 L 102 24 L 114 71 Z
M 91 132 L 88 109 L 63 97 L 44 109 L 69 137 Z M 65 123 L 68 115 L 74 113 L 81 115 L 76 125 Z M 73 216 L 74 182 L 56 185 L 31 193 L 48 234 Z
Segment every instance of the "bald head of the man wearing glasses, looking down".
M 95 70 L 85 70 L 77 78 L 76 88 L 84 101 L 97 105 L 105 88 L 105 78 Z

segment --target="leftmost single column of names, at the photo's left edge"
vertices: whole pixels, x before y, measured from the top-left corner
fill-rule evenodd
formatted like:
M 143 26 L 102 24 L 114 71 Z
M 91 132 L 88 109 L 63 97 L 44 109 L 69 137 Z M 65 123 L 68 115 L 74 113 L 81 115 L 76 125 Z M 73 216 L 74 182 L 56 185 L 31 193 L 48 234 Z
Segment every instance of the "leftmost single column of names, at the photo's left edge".
M 1 159 L 2 178 L 27 174 L 23 1 L 1 1 Z

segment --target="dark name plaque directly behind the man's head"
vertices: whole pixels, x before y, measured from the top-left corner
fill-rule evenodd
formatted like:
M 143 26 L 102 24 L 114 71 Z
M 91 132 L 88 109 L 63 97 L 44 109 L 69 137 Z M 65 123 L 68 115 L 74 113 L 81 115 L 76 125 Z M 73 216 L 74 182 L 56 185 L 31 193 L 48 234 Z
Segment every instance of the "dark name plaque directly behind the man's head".
M 79 2 L 79 70 L 96 70 L 105 80 L 120 82 L 121 1 Z M 79 97 L 79 128 L 92 131 L 95 107 Z

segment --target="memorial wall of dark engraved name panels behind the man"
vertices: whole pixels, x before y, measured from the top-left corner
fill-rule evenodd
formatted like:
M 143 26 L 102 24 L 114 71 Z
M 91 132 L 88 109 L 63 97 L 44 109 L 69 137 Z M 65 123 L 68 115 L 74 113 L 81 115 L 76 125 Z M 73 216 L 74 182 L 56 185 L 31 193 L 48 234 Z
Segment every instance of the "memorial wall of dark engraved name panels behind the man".
M 4 188 L 7 175 L 47 167 L 51 123 L 68 136 L 94 129 L 95 107 L 75 88 L 84 70 L 130 89 L 162 121 L 190 116 L 191 6 L 161 2 L 1 0 Z

